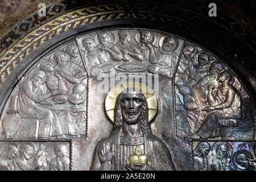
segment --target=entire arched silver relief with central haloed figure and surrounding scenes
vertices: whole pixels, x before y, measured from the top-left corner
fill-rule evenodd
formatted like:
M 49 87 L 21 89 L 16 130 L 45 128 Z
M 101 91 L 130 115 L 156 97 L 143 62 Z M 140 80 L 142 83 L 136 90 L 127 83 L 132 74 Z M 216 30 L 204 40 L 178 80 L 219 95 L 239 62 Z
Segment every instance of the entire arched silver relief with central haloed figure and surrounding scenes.
M 236 74 L 199 45 L 94 31 L 19 80 L 1 115 L 1 169 L 255 170 L 255 119 Z

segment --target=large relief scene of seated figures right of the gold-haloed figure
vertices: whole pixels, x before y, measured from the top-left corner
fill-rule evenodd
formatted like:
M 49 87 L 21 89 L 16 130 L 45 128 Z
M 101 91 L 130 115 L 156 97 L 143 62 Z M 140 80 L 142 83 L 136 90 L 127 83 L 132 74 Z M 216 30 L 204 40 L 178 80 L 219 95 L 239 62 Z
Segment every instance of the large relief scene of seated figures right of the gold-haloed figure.
M 237 137 L 242 137 L 244 133 L 239 131 L 239 123 L 243 124 L 243 130 L 251 128 L 251 133 L 244 136 L 253 137 L 253 118 L 243 119 L 243 112 L 248 108 L 242 107 L 243 98 L 238 91 L 241 84 L 209 52 L 185 44 L 175 85 L 179 137 L 225 138 L 229 128 L 236 128 Z

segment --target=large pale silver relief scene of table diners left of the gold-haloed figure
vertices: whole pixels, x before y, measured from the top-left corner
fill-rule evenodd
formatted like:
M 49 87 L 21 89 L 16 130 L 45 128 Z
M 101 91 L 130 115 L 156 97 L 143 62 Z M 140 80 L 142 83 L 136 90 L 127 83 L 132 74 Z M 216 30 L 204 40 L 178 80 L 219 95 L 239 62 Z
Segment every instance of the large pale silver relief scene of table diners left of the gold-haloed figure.
M 49 58 L 40 61 L 23 78 L 18 93 L 13 96 L 9 117 L 3 121 L 6 138 L 26 138 L 22 128 L 27 130 L 27 125 L 37 121 L 39 126 L 31 132 L 36 133 L 34 136 L 38 139 L 85 136 L 87 76 L 79 49 L 75 43 L 70 43 Z M 79 106 L 82 103 L 84 108 Z M 10 131 L 15 111 L 18 113 L 15 119 L 20 121 L 16 123 L 20 125 Z

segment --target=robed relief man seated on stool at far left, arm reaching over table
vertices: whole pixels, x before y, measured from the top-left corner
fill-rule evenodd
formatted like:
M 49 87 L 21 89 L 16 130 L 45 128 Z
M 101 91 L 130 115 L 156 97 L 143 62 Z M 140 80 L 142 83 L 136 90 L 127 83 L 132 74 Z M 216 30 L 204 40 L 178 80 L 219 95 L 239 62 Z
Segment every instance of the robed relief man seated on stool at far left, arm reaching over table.
M 63 131 L 60 127 L 56 114 L 46 107 L 36 105 L 52 96 L 63 94 L 61 90 L 52 90 L 47 93 L 42 85 L 46 73 L 35 70 L 31 73 L 31 78 L 20 85 L 18 94 L 18 111 L 22 118 L 36 118 L 39 120 L 38 138 L 51 139 L 53 136 L 60 137 Z

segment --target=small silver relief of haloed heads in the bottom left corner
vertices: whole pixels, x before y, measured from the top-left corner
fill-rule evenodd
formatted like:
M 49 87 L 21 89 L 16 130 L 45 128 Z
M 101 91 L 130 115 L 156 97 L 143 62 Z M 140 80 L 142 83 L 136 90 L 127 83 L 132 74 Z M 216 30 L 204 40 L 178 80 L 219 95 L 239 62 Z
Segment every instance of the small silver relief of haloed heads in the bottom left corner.
M 53 147 L 32 142 L 6 142 L 0 148 L 1 171 L 69 171 L 67 144 L 56 143 Z M 52 158 L 48 154 L 52 152 Z

